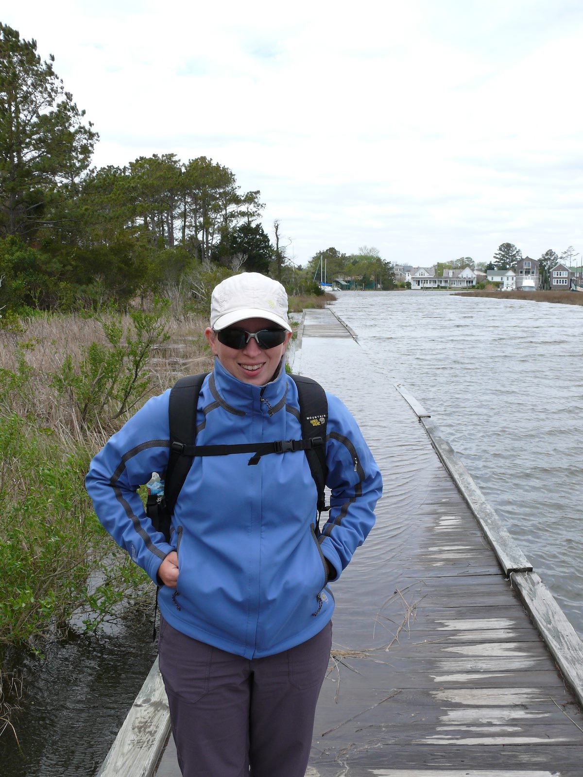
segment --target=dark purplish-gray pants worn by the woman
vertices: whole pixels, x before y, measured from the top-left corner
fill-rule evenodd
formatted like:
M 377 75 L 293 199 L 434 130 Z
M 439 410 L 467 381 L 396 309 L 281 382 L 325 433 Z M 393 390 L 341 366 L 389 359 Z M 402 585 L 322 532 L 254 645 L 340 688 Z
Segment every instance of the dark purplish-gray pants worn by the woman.
M 246 659 L 160 624 L 159 664 L 183 777 L 304 777 L 332 624 Z

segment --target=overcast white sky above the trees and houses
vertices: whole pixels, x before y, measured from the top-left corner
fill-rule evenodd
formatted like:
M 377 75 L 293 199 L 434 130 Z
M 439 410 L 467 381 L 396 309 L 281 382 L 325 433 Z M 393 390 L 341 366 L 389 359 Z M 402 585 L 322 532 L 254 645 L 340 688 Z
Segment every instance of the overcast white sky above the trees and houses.
M 583 253 L 581 0 L 27 0 L 0 20 L 54 54 L 94 166 L 213 159 L 296 264 Z

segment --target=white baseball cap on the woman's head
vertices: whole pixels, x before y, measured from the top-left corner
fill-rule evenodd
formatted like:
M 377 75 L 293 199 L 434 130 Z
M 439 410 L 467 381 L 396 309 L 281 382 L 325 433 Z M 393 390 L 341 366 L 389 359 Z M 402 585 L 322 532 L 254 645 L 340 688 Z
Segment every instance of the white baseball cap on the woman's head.
M 211 296 L 211 327 L 218 332 L 243 319 L 268 319 L 292 331 L 288 324 L 288 294 L 278 282 L 260 273 L 225 278 Z

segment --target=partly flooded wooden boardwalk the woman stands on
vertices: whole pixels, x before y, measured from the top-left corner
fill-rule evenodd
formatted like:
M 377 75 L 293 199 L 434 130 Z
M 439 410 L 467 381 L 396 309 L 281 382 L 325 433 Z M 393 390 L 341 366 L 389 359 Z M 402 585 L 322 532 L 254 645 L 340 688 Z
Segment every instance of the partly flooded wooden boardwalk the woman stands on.
M 294 370 L 340 395 L 385 483 L 375 528 L 333 584 L 333 652 L 306 777 L 581 777 L 581 708 L 522 600 L 579 694 L 581 643 L 536 573 L 508 580 L 487 535 L 505 569 L 529 564 L 487 504 L 477 523 L 417 417 L 428 414 L 414 413 L 328 310 L 306 312 Z M 454 474 L 479 500 L 463 467 Z M 134 750 L 146 733 L 131 735 Z M 120 770 L 110 754 L 103 777 L 152 774 L 123 747 L 136 766 Z M 179 777 L 172 744 L 155 774 Z

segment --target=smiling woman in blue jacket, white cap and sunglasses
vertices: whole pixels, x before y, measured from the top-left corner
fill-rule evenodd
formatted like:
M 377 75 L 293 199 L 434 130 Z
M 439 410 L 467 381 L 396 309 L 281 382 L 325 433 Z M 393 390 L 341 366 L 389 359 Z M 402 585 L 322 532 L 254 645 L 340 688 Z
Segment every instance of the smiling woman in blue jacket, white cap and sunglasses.
M 292 336 L 275 280 L 215 288 L 205 334 L 215 369 L 197 403 L 197 445 L 302 436 Z M 303 777 L 330 656 L 337 580 L 374 523 L 382 484 L 358 426 L 326 395 L 328 521 L 303 451 L 197 457 L 167 543 L 136 489 L 164 472 L 169 392 L 145 403 L 93 459 L 87 489 L 107 531 L 157 584 L 159 664 L 186 777 Z

